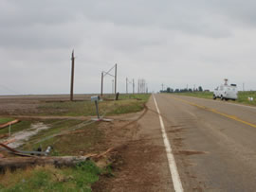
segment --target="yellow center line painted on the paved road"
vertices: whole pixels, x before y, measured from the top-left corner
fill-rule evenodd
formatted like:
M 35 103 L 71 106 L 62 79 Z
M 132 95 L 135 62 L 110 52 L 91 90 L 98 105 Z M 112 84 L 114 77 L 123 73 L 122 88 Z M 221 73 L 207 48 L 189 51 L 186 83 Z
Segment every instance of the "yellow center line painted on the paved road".
M 234 115 L 230 115 L 230 114 L 227 114 L 227 113 L 221 113 L 221 112 L 218 112 L 217 110 L 214 110 L 214 109 L 210 109 L 210 108 L 207 108 L 205 106 L 201 106 L 201 105 L 197 105 L 196 103 L 193 103 L 193 102 L 190 102 L 190 101 L 187 101 L 187 100 L 184 100 L 184 99 L 181 99 L 181 98 L 176 98 L 174 97 L 174 99 L 176 100 L 179 100 L 179 101 L 182 101 L 184 103 L 187 103 L 187 104 L 190 104 L 192 106 L 195 106 L 197 108 L 200 108 L 200 109 L 203 109 L 203 110 L 206 110 L 206 111 L 209 111 L 209 112 L 212 112 L 212 113 L 217 113 L 217 114 L 220 114 L 220 115 L 223 115 L 229 119 L 232 119 L 232 120 L 235 120 L 235 121 L 238 121 L 240 123 L 244 123 L 250 127 L 253 127 L 253 128 L 256 128 L 256 125 L 255 124 L 252 124 L 252 123 L 249 123 L 247 121 L 244 121 L 242 119 L 240 119 L 239 117 L 237 116 L 234 116 Z

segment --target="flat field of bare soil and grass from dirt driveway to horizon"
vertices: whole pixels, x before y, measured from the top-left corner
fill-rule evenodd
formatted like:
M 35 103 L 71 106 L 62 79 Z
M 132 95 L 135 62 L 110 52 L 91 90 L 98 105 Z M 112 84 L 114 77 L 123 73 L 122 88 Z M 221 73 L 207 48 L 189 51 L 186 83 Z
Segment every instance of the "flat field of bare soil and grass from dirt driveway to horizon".
M 96 115 L 92 95 L 74 96 L 0 96 L 0 115 L 30 116 L 90 116 Z M 141 111 L 149 95 L 120 95 L 115 101 L 113 95 L 104 96 L 99 102 L 100 114 L 135 113 Z

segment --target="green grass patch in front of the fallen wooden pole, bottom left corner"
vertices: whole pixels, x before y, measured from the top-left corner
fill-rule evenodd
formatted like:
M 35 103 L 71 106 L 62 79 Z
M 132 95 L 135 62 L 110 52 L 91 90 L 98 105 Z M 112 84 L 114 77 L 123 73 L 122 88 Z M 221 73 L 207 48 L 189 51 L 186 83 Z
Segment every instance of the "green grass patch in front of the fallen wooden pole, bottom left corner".
M 0 190 L 9 191 L 91 191 L 91 184 L 99 180 L 101 169 L 91 161 L 75 167 L 55 168 L 36 166 L 15 172 L 6 172 L 0 181 Z

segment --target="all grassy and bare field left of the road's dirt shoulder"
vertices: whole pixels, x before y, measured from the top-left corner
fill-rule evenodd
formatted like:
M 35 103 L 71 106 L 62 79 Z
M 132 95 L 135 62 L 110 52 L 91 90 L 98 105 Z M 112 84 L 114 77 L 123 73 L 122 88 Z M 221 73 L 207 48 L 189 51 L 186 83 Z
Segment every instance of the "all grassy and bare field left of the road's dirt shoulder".
M 145 103 L 150 95 L 105 96 L 99 103 L 100 114 L 114 118 L 112 122 L 95 122 L 95 104 L 91 95 L 75 96 L 0 96 L 0 122 L 19 118 L 21 122 L 11 126 L 11 140 L 14 135 L 21 136 L 30 131 L 33 125 L 46 126 L 24 141 L 18 149 L 53 149 L 50 156 L 83 156 L 101 154 L 109 148 L 125 145 L 137 129 L 136 122 L 143 114 Z M 3 137 L 9 129 L 0 130 Z M 119 148 L 120 149 L 120 148 Z M 119 150 L 117 149 L 117 150 Z M 4 157 L 15 156 L 1 150 Z M 116 154 L 116 153 L 115 153 Z M 88 161 L 75 167 L 57 168 L 54 166 L 35 166 L 25 170 L 7 170 L 0 180 L 1 191 L 47 191 L 74 190 L 91 191 L 93 183 L 100 177 L 112 177 L 113 162 L 122 161 L 114 154 L 104 156 L 100 163 Z M 117 160 L 118 158 L 118 160 Z

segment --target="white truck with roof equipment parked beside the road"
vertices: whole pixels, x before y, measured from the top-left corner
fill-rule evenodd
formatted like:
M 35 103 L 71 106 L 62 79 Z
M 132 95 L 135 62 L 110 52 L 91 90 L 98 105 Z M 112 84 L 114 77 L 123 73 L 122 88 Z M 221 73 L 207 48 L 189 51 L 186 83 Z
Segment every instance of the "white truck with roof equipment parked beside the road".
M 225 84 L 218 86 L 214 89 L 213 99 L 221 98 L 222 100 L 236 100 L 237 99 L 237 87 L 236 84 L 228 85 L 228 79 L 225 79 Z

